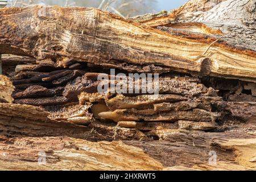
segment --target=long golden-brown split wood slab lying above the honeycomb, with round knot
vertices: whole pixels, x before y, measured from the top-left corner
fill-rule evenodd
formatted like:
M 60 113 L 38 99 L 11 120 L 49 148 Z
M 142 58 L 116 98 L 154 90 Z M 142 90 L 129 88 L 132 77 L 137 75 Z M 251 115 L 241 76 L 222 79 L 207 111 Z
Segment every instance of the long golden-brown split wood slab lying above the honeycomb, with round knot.
M 255 51 L 219 41 L 203 55 L 217 39 L 212 36 L 170 34 L 84 7 L 7 8 L 0 15 L 0 53 L 72 57 L 119 68 L 123 63 L 163 65 L 180 72 L 209 69 L 208 75 L 255 81 Z

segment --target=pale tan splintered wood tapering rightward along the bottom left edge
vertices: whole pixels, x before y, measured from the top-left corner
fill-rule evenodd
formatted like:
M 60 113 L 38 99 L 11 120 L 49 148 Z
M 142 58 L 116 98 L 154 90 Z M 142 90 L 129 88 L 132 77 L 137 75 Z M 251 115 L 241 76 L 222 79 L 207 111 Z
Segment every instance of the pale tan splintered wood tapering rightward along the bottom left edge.
M 123 142 L 96 143 L 68 137 L 1 138 L 0 151 L 2 154 L 0 169 L 5 170 L 161 170 L 163 168 L 158 160 L 145 154 L 141 148 Z M 16 151 L 19 151 L 19 154 Z M 42 161 L 38 163 L 39 157 L 44 156 L 40 152 L 45 152 L 43 154 L 46 155 L 46 164 Z

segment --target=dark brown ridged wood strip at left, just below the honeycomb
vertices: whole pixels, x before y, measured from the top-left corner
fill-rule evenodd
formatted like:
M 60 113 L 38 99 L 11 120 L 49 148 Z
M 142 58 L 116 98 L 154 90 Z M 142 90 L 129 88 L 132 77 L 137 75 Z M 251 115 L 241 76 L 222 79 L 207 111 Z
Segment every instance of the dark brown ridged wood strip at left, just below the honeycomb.
M 89 126 L 48 118 L 49 113 L 39 107 L 17 104 L 0 104 L 0 131 L 8 137 L 68 136 L 87 140 L 147 139 L 136 129 L 122 129 L 114 125 L 93 122 Z

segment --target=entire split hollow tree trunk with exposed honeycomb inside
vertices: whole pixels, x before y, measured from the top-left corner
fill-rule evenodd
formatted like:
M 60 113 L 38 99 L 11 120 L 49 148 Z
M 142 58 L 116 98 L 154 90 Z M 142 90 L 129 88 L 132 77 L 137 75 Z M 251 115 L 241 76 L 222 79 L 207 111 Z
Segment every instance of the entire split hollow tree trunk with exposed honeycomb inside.
M 256 169 L 253 0 L 1 9 L 0 53 L 29 56 L 3 56 L 0 169 Z M 97 92 L 108 68 L 160 73 L 159 95 Z

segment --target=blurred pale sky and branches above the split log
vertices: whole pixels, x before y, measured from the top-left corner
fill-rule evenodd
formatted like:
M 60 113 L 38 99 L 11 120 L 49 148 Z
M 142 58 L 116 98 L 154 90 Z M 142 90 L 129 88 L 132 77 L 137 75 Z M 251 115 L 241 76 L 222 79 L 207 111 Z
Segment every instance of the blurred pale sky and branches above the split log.
M 8 0 L 8 6 L 59 5 L 87 6 L 112 11 L 125 18 L 146 13 L 170 11 L 183 5 L 188 0 Z

